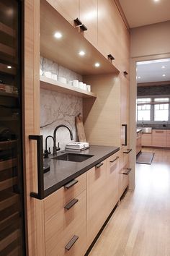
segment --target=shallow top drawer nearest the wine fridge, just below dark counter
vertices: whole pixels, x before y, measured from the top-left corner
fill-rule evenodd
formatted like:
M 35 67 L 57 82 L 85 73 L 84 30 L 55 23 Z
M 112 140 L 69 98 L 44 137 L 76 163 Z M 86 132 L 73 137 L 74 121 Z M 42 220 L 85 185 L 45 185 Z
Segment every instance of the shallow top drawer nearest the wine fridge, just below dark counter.
M 68 188 L 61 187 L 44 200 L 45 222 L 57 214 L 63 207 L 84 189 L 86 189 L 86 173 L 74 179 L 75 184 L 69 184 Z M 71 187 L 69 187 L 71 185 Z

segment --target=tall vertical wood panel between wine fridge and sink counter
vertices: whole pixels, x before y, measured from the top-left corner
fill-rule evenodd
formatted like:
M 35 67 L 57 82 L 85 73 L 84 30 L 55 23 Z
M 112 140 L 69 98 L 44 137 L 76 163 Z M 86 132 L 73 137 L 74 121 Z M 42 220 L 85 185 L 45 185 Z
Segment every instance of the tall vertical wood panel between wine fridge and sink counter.
M 23 135 L 24 135 L 24 187 L 25 228 L 27 255 L 43 255 L 42 227 L 37 221 L 37 200 L 30 192 L 37 191 L 37 153 L 35 142 L 29 135 L 40 134 L 40 1 L 24 1 L 24 90 L 23 90 Z M 38 239 L 37 239 L 38 237 Z M 40 239 L 41 238 L 41 239 Z

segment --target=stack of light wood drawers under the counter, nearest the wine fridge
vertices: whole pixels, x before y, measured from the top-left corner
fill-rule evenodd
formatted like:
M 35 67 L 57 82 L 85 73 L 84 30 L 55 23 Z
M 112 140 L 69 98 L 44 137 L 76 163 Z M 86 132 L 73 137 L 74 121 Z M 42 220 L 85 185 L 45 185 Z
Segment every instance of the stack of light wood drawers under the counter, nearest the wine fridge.
M 80 256 L 86 252 L 86 173 L 77 181 L 44 200 L 45 255 Z

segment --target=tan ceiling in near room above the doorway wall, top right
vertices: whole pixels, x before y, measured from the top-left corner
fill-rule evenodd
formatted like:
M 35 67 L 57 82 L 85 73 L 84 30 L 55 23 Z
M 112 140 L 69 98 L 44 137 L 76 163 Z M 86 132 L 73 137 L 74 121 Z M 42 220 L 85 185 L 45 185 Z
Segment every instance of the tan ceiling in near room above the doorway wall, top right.
M 119 0 L 130 28 L 170 20 L 170 0 Z

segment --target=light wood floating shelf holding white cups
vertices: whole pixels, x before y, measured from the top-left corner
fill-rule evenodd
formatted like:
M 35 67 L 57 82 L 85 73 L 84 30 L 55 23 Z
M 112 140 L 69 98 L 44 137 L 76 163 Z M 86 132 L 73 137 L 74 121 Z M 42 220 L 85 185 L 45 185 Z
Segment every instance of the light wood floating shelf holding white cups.
M 40 88 L 45 90 L 55 90 L 58 93 L 76 95 L 82 98 L 97 98 L 97 95 L 94 93 L 87 92 L 86 90 L 82 90 L 80 88 L 75 88 L 71 85 L 67 85 L 44 76 L 40 76 Z

